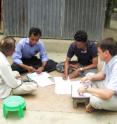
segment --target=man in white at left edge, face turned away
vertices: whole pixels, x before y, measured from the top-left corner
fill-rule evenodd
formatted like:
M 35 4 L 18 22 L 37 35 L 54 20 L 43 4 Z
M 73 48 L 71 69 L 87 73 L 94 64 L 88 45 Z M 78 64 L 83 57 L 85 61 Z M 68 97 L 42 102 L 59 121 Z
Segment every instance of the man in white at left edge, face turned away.
M 15 50 L 15 40 L 5 37 L 0 42 L 0 98 L 10 94 L 27 94 L 37 89 L 34 82 L 25 82 L 16 79 L 6 57 L 11 56 Z

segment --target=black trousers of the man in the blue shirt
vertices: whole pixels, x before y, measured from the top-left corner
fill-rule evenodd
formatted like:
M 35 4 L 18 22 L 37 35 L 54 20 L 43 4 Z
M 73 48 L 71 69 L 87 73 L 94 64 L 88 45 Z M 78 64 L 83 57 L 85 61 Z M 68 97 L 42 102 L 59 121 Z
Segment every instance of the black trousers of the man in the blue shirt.
M 33 56 L 30 59 L 22 58 L 22 62 L 23 62 L 23 64 L 26 64 L 28 66 L 34 67 L 35 69 L 37 69 L 38 67 L 40 67 L 42 65 L 41 60 L 38 59 L 36 56 Z M 57 63 L 54 62 L 53 60 L 48 60 L 46 66 L 45 66 L 44 71 L 51 72 L 51 71 L 56 70 L 56 64 Z M 18 71 L 20 74 L 24 74 L 24 73 L 27 73 L 28 72 L 27 70 L 23 69 L 22 67 L 20 67 L 16 63 L 13 63 L 11 65 L 11 68 L 14 71 Z

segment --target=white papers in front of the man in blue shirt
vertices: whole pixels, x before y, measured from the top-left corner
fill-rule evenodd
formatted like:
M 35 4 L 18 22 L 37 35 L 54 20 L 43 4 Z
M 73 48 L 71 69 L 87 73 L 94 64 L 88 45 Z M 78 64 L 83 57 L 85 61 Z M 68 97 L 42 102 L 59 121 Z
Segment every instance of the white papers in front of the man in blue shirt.
M 54 84 L 53 81 L 50 79 L 50 75 L 47 72 L 42 72 L 41 74 L 29 73 L 27 74 L 28 78 L 37 82 L 40 87 L 45 87 Z

